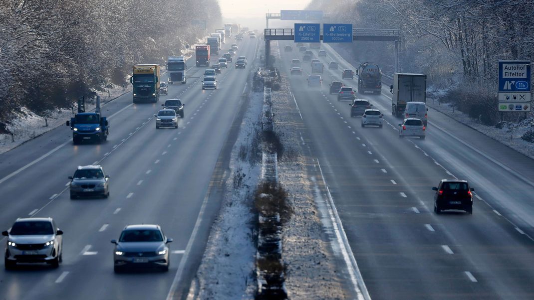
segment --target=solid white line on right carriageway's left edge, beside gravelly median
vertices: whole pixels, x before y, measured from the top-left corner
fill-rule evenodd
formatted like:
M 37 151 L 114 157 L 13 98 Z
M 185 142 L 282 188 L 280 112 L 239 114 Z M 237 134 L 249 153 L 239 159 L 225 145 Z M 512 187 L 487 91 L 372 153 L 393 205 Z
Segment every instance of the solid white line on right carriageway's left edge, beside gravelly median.
M 343 229 L 343 224 L 341 223 L 339 214 L 337 214 L 337 209 L 334 205 L 334 199 L 332 198 L 330 189 L 328 188 L 328 185 L 326 184 L 325 176 L 323 175 L 323 169 L 321 168 L 321 165 L 319 164 L 319 159 L 317 159 L 317 165 L 319 166 L 319 172 L 321 173 L 323 184 L 325 185 L 326 192 L 328 194 L 327 208 L 328 208 L 328 212 L 331 215 L 330 217 L 332 220 L 332 225 L 334 227 L 334 232 L 336 234 L 337 242 L 339 243 L 341 252 L 343 254 L 343 258 L 345 260 L 345 263 L 347 264 L 347 270 L 349 271 L 356 294 L 358 295 L 358 299 L 369 299 L 370 300 L 371 296 L 369 295 L 369 292 L 367 291 L 367 287 L 365 286 L 362 273 L 360 273 L 360 270 L 358 268 L 358 263 L 356 262 L 354 253 L 352 253 L 352 249 L 350 248 L 350 244 L 347 239 L 347 234 L 345 233 L 345 230 Z

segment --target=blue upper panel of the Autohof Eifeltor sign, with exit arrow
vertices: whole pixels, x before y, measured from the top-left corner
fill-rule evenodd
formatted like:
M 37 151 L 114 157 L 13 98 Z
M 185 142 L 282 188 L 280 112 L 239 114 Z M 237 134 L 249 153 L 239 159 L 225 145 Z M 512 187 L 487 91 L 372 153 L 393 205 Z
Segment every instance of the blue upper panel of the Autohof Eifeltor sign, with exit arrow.
M 530 90 L 530 61 L 499 61 L 499 92 Z

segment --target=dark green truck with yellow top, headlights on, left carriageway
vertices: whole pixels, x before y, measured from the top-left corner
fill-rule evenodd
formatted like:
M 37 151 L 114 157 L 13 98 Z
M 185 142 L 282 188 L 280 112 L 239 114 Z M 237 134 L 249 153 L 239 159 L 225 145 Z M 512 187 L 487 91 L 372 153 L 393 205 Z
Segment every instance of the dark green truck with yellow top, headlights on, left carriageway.
M 135 64 L 132 67 L 130 83 L 133 85 L 133 103 L 160 100 L 160 65 Z

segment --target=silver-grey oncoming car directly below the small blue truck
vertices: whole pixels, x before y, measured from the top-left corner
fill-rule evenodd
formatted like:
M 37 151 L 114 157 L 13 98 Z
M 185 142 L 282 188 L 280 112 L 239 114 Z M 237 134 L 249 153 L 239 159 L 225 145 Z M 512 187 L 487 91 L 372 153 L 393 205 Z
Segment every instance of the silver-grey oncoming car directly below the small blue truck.
M 81 196 L 109 197 L 109 176 L 101 166 L 78 166 L 74 176 L 69 176 L 70 199 Z

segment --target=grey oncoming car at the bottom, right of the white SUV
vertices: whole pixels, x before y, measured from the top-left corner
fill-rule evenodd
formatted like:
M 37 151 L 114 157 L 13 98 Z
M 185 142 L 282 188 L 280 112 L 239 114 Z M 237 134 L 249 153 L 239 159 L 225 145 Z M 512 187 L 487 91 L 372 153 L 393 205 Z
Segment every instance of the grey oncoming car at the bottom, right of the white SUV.
M 120 272 L 125 267 L 158 267 L 169 270 L 169 252 L 167 246 L 172 239 L 163 234 L 159 225 L 128 225 L 119 240 L 111 240 L 113 249 L 114 271 Z

